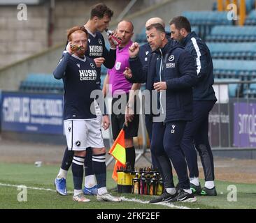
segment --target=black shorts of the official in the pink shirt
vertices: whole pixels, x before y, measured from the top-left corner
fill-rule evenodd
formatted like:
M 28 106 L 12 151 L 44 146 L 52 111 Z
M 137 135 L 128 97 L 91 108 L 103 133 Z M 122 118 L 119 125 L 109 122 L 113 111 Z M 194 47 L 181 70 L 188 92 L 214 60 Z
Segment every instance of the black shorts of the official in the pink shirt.
M 122 107 L 121 114 L 115 114 L 115 112 L 113 112 L 113 104 L 117 100 L 120 100 L 120 97 L 113 98 L 112 105 L 111 105 L 111 109 L 112 109 L 112 111 L 111 111 L 111 127 L 112 127 L 112 134 L 113 134 L 114 140 L 118 137 L 118 134 L 122 130 L 122 127 L 125 123 L 125 108 Z M 118 109 L 121 109 L 121 105 L 127 105 L 128 100 L 129 100 L 129 94 L 127 94 L 125 103 L 121 104 L 120 102 L 118 102 Z M 131 139 L 132 137 L 138 136 L 139 115 L 136 114 L 136 102 L 134 104 L 135 104 L 134 105 L 135 106 L 134 119 L 133 119 L 133 121 L 128 123 L 127 127 L 125 127 L 125 139 Z

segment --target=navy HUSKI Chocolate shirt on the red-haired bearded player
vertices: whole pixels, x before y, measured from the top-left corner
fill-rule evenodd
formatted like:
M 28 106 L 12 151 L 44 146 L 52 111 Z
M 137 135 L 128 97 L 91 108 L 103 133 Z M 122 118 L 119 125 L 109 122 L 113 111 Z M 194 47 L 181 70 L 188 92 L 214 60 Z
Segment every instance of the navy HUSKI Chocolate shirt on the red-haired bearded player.
M 64 120 L 96 118 L 92 91 L 98 89 L 99 75 L 93 59 L 64 54 L 53 75 L 64 82 Z M 93 109 L 91 111 L 90 109 Z

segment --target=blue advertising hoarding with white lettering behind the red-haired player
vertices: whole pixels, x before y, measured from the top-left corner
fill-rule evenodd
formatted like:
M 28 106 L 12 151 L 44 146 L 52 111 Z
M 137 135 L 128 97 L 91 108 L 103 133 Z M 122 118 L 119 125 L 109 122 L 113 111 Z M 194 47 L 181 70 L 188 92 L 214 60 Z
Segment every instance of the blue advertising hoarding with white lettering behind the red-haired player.
M 1 130 L 63 134 L 63 95 L 2 92 Z

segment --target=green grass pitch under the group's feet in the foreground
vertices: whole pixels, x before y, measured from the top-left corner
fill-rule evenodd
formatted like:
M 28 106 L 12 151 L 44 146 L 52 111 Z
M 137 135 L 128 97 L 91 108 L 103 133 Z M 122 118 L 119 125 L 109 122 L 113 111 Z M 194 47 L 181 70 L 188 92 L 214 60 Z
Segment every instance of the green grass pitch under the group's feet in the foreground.
M 220 209 L 220 208 L 256 208 L 256 185 L 246 183 L 232 183 L 216 180 L 217 197 L 197 196 L 196 203 L 173 203 L 174 206 L 163 206 L 159 204 L 139 203 L 134 201 L 122 201 L 121 203 L 99 202 L 96 197 L 90 197 L 89 203 L 76 203 L 72 200 L 72 194 L 63 197 L 54 190 L 53 181 L 59 166 L 43 165 L 35 167 L 34 164 L 0 164 L 0 209 L 169 209 L 169 208 L 200 208 L 200 209 Z M 111 178 L 112 171 L 107 173 L 107 187 L 115 187 L 115 182 Z M 176 180 L 176 179 L 175 179 Z M 176 180 L 177 181 L 177 180 Z M 73 191 L 73 180 L 69 171 L 68 191 Z M 204 185 L 203 180 L 201 184 Z M 15 185 L 26 185 L 27 201 L 18 201 L 17 195 L 21 192 Z M 228 201 L 230 190 L 229 185 L 237 188 L 237 201 Z M 50 188 L 51 190 L 36 190 L 29 187 Z M 113 193 L 115 194 L 115 193 Z M 126 199 L 139 199 L 149 201 L 150 196 L 134 194 L 115 194 Z M 234 195 L 233 197 L 234 198 Z

